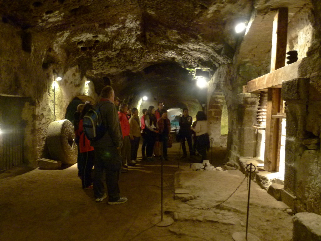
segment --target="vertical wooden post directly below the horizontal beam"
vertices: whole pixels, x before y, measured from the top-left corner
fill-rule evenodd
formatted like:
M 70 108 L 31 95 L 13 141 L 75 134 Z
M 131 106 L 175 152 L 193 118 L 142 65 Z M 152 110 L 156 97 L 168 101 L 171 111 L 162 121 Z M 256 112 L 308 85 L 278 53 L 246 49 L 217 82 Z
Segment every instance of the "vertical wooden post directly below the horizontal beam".
M 281 133 L 280 119 L 272 118 L 272 115 L 280 112 L 281 89 L 268 89 L 267 98 L 264 169 L 273 172 L 278 170 L 280 162 Z

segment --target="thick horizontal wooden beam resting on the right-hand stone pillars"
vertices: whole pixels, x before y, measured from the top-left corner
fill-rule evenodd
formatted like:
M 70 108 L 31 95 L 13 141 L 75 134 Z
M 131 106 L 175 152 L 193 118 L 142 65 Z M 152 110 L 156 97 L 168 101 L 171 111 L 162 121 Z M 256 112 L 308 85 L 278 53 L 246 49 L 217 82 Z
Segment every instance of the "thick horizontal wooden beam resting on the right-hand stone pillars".
M 267 88 L 281 88 L 284 81 L 299 78 L 300 63 L 301 60 L 247 82 L 247 93 L 259 92 Z

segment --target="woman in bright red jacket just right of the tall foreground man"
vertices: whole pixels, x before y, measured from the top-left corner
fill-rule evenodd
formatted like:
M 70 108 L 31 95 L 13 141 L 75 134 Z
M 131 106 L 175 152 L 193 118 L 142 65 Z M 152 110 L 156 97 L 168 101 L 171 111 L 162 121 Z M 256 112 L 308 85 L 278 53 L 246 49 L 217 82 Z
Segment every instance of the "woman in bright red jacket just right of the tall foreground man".
M 130 147 L 130 138 L 129 138 L 130 126 L 129 126 L 128 118 L 126 116 L 127 110 L 128 110 L 128 104 L 121 103 L 118 111 L 120 127 L 123 133 L 123 146 L 121 147 L 121 155 L 123 158 L 123 165 L 127 163 L 127 166 L 134 166 L 136 162 L 131 160 L 131 147 Z

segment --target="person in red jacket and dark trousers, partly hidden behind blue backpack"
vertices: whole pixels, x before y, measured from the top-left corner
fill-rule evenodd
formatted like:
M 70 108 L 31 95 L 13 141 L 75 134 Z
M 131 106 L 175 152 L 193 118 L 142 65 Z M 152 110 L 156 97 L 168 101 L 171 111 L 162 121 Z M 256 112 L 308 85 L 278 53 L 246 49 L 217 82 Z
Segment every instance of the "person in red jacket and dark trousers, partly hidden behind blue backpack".
M 80 115 L 79 128 L 76 131 L 76 135 L 79 138 L 79 150 L 82 153 L 82 188 L 93 189 L 91 170 L 95 162 L 94 147 L 90 145 L 90 141 L 85 136 L 82 128 L 82 121 L 87 111 L 93 109 L 90 103 L 84 105 L 83 111 Z

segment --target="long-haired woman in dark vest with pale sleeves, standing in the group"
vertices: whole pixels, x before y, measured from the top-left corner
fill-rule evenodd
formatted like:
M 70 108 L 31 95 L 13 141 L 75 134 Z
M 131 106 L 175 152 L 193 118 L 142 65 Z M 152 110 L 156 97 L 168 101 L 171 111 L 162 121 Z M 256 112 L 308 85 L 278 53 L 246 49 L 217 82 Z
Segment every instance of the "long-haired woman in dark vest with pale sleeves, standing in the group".
M 145 137 L 146 137 L 146 157 L 149 162 L 154 161 L 152 155 L 154 150 L 154 144 L 156 140 L 156 117 L 154 115 L 155 107 L 148 107 L 147 114 L 145 115 Z

